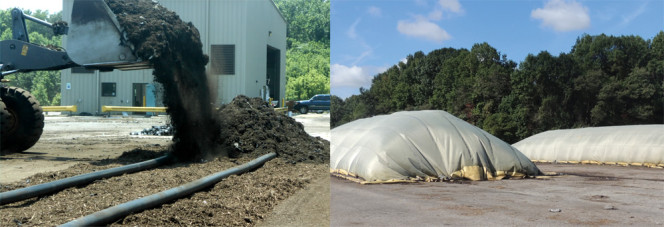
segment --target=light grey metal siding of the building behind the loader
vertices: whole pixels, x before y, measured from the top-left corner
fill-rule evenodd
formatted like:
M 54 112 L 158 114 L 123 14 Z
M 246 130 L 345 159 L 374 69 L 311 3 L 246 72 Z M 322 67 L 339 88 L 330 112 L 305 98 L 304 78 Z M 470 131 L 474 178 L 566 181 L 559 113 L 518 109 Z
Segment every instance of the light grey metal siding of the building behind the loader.
M 65 21 L 70 21 L 71 1 L 63 1 Z M 267 45 L 280 50 L 280 90 L 281 97 L 285 97 L 286 22 L 271 0 L 160 0 L 159 3 L 198 28 L 205 54 L 210 54 L 213 44 L 235 45 L 235 74 L 209 78 L 212 87 L 216 85 L 217 104 L 228 103 L 238 94 L 259 96 L 260 88 L 265 85 Z M 268 31 L 272 31 L 271 36 Z M 66 36 L 63 43 L 65 40 Z M 131 106 L 132 84 L 153 83 L 151 69 L 95 74 L 62 70 L 61 76 L 62 105 L 78 105 L 79 112 L 89 113 L 101 111 L 101 105 Z M 102 82 L 117 83 L 117 95 L 101 97 Z M 67 83 L 71 83 L 69 90 Z

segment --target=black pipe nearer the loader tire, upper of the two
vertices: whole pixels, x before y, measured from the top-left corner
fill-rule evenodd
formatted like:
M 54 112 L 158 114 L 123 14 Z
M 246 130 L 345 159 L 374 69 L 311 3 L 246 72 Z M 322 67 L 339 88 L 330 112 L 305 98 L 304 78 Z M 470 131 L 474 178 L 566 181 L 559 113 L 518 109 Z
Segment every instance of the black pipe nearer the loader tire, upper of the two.
M 102 178 L 108 178 L 112 176 L 122 175 L 125 173 L 133 173 L 145 169 L 154 168 L 166 164 L 171 160 L 172 160 L 171 155 L 164 155 L 162 157 L 155 158 L 152 160 L 147 160 L 144 162 L 105 169 L 92 173 L 81 174 L 48 183 L 33 185 L 30 187 L 16 189 L 8 192 L 2 192 L 0 193 L 0 205 L 13 203 L 41 195 L 46 195 L 76 185 L 87 184 Z

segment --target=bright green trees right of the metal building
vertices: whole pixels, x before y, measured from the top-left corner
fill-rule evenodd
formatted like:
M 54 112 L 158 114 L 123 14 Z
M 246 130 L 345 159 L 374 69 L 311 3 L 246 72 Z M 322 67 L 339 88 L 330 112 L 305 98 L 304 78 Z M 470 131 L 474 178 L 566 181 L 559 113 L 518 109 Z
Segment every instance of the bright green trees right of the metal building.
M 330 2 L 275 0 L 288 23 L 286 99 L 330 93 Z

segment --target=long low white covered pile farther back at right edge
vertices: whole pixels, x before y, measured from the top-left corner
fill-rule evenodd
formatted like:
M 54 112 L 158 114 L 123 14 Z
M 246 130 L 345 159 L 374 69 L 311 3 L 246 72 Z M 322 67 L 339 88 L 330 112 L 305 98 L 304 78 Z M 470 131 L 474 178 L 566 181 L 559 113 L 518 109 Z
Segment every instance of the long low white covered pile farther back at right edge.
M 552 130 L 514 147 L 538 162 L 664 166 L 664 125 Z

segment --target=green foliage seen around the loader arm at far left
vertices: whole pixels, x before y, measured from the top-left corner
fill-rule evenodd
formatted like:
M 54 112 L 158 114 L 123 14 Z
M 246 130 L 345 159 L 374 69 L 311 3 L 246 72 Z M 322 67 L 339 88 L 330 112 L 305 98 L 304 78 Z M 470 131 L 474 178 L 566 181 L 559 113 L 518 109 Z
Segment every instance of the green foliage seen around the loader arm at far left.
M 0 10 L 0 31 L 2 31 L 0 33 L 0 40 L 12 39 L 11 10 Z M 23 13 L 50 23 L 62 20 L 62 12 L 49 13 L 42 10 L 23 10 Z M 54 36 L 52 29 L 29 20 L 26 20 L 25 24 L 31 43 L 42 46 L 62 46 L 62 36 Z M 15 73 L 6 76 L 5 79 L 11 81 L 7 83 L 9 86 L 20 87 L 30 91 L 42 106 L 60 105 L 60 71 Z

